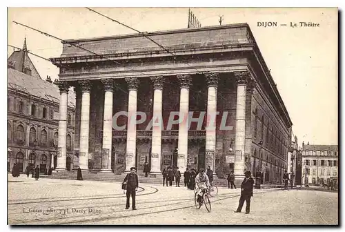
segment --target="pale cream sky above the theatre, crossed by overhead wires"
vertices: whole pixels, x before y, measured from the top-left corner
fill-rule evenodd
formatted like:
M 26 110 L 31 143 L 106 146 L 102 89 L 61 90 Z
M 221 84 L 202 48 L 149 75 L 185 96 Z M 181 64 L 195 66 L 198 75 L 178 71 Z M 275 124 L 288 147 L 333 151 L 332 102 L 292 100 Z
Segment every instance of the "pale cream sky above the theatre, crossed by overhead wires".
M 188 8 L 92 8 L 140 31 L 186 28 Z M 299 146 L 338 144 L 337 8 L 191 8 L 202 26 L 248 23 L 293 122 Z M 86 8 L 8 8 L 8 44 L 41 57 L 59 57 L 60 41 L 16 25 L 26 24 L 61 39 L 132 34 Z M 275 21 L 264 28 L 258 22 Z M 319 27 L 290 27 L 290 23 Z M 279 26 L 286 23 L 287 26 Z M 162 44 L 164 46 L 164 44 Z M 8 47 L 8 57 L 13 49 Z M 29 55 L 41 77 L 58 78 L 59 69 Z

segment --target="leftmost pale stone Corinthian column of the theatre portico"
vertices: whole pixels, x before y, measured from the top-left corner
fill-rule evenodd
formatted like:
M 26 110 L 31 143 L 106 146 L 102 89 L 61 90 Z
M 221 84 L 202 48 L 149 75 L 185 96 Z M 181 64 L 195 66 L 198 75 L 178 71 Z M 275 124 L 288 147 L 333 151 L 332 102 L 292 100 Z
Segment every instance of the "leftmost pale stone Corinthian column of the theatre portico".
M 57 142 L 57 168 L 66 170 L 66 136 L 67 136 L 67 104 L 68 88 L 67 81 L 57 81 L 60 89 L 59 101 L 59 138 Z

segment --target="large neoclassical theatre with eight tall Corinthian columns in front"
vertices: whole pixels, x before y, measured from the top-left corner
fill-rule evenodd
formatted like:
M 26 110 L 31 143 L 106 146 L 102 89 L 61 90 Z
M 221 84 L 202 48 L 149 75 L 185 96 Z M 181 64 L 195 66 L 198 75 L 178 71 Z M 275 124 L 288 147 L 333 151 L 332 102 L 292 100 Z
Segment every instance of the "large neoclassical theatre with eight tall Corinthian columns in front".
M 156 174 L 164 166 L 210 165 L 217 175 L 262 171 L 263 182 L 277 182 L 287 168 L 292 122 L 246 23 L 72 39 L 51 60 L 60 69 L 65 134 L 66 90 L 75 86 L 75 158 L 82 170 L 124 173 L 136 166 L 141 173 L 148 162 Z M 169 128 L 176 111 L 193 114 L 190 128 Z M 147 118 L 135 126 L 118 114 L 121 129 L 114 128 L 121 112 Z M 159 115 L 163 125 L 150 128 Z M 65 164 L 61 136 L 57 168 Z

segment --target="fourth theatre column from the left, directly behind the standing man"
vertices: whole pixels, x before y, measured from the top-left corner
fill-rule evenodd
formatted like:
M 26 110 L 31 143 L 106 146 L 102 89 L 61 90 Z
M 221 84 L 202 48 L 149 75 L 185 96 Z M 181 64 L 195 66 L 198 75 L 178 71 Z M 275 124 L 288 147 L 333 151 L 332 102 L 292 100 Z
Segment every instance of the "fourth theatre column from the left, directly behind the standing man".
M 139 87 L 139 79 L 137 77 L 126 78 L 128 84 L 128 121 L 127 121 L 127 143 L 126 143 L 126 170 L 135 166 L 137 153 L 137 95 Z

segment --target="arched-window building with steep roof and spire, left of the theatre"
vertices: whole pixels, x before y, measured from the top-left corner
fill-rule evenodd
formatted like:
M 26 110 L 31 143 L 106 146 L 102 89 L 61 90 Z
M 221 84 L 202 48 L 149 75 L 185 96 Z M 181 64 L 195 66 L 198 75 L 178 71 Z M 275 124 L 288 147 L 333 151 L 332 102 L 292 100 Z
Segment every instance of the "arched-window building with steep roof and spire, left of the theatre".
M 68 127 L 66 169 L 72 168 L 75 131 L 75 98 L 68 101 Z M 28 56 L 26 41 L 23 50 L 8 58 L 8 171 L 14 163 L 20 171 L 26 166 L 39 165 L 41 173 L 49 166 L 57 166 L 57 140 L 59 136 L 59 88 L 50 77 L 41 79 Z

